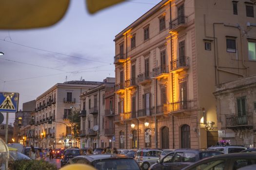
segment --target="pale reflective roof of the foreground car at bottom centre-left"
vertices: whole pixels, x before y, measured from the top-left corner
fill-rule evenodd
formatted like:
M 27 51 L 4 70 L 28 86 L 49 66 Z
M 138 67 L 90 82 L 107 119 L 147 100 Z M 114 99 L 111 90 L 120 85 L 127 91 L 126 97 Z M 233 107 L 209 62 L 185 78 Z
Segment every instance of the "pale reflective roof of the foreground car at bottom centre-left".
M 81 157 L 81 158 L 85 158 L 87 160 L 89 160 L 90 162 L 94 161 L 94 160 L 98 160 L 98 159 L 133 159 L 133 158 L 129 158 L 126 157 L 124 155 L 120 155 L 120 154 L 92 154 L 92 155 L 81 155 L 81 156 L 76 156 L 76 158 Z

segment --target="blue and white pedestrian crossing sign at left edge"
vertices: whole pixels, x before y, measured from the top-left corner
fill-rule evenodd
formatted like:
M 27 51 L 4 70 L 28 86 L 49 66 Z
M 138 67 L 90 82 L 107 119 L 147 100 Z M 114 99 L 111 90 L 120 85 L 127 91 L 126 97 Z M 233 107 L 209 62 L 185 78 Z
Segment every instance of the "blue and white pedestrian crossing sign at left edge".
M 17 112 L 19 93 L 0 92 L 0 112 Z

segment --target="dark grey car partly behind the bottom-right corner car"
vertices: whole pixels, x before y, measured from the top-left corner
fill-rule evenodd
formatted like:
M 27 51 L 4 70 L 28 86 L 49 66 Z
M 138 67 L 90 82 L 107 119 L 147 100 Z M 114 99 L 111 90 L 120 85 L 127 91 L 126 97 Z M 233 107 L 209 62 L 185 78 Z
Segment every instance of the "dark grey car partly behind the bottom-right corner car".
M 158 160 L 149 170 L 181 170 L 201 159 L 220 154 L 223 153 L 216 150 L 177 149 Z

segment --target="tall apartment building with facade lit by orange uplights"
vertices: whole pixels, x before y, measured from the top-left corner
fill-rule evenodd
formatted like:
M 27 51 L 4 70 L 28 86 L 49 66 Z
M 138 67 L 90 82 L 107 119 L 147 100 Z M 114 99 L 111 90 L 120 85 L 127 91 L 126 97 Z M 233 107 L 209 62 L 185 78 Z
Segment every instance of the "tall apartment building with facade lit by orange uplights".
M 216 85 L 256 72 L 254 8 L 254 0 L 162 0 L 117 34 L 115 147 L 215 145 Z

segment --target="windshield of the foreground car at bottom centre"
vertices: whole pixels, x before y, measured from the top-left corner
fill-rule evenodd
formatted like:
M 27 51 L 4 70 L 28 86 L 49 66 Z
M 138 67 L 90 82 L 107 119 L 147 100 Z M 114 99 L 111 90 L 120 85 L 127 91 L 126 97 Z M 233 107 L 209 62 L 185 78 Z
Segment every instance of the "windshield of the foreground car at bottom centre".
M 134 159 L 99 159 L 93 165 L 97 170 L 140 170 Z

